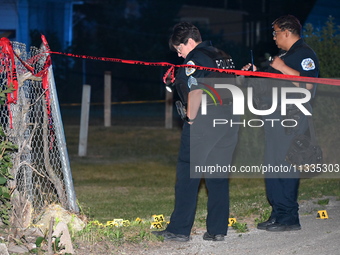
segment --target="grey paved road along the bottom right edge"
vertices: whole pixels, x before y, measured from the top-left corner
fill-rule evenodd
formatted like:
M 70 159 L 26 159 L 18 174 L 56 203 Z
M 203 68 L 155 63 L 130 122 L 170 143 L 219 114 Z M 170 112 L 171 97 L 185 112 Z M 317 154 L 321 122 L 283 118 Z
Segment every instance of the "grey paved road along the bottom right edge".
M 320 208 L 316 201 L 301 203 L 300 231 L 273 233 L 251 227 L 249 232 L 240 234 L 230 230 L 224 242 L 203 241 L 203 232 L 200 232 L 192 236 L 190 242 L 164 242 L 157 248 L 141 251 L 141 254 L 339 255 L 340 201 L 331 197 L 329 204 L 324 208 Z M 317 219 L 315 210 L 318 209 L 325 209 L 328 219 Z M 304 213 L 309 214 L 303 215 Z

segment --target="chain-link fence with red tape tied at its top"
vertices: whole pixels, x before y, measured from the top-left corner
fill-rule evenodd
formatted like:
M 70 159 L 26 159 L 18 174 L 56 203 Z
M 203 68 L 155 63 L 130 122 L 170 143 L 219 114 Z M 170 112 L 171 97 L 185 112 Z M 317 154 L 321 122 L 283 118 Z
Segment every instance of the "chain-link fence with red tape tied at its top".
M 0 125 L 18 146 L 8 182 L 17 227 L 34 223 L 53 203 L 78 212 L 48 45 L 42 45 L 26 52 L 25 44 L 0 44 L 1 88 L 15 89 L 1 106 Z

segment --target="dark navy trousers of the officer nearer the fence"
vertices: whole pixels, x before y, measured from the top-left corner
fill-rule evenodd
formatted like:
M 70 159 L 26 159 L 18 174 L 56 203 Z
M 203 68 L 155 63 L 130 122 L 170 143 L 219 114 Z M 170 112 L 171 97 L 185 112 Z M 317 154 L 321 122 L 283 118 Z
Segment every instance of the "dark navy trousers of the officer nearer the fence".
M 190 176 L 190 164 L 193 158 L 190 157 L 190 147 L 194 147 L 194 150 L 199 153 L 199 155 L 195 155 L 195 158 L 201 159 L 200 164 L 216 163 L 215 159 L 220 160 L 218 161 L 219 164 L 231 163 L 237 143 L 238 127 L 220 126 L 218 128 L 221 132 L 212 129 L 213 118 L 217 116 L 226 119 L 233 118 L 231 107 L 224 107 L 220 110 L 221 112 L 216 113 L 216 115 L 209 112 L 207 116 L 198 116 L 192 126 L 188 123 L 183 125 L 176 172 L 175 208 L 167 227 L 167 231 L 171 233 L 190 235 L 195 219 L 201 178 Z M 234 119 L 238 118 L 234 117 Z M 201 150 L 196 150 L 197 148 L 201 148 Z M 216 157 L 216 155 L 223 155 L 223 159 L 219 159 L 220 157 Z M 209 177 L 205 178 L 205 185 L 208 190 L 207 231 L 210 234 L 225 235 L 229 217 L 229 180 L 226 176 L 224 178 L 206 177 Z

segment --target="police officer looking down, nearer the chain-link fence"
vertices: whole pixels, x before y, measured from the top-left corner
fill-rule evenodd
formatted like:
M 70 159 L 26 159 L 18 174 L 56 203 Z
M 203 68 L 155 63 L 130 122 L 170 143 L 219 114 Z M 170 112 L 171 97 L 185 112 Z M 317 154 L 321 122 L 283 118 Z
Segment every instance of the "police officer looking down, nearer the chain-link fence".
M 184 64 L 214 68 L 234 68 L 229 55 L 202 42 L 197 27 L 182 22 L 173 28 L 169 46 Z M 176 74 L 175 86 L 184 109 L 185 120 L 181 135 L 180 151 L 177 162 L 175 185 L 175 208 L 166 230 L 153 231 L 165 240 L 188 241 L 195 219 L 198 190 L 202 173 L 193 174 L 194 165 L 231 163 L 237 143 L 238 127 L 221 125 L 213 129 L 214 118 L 238 120 L 232 115 L 232 102 L 222 92 L 208 85 L 209 77 L 214 72 L 197 68 L 180 68 Z M 202 82 L 201 79 L 204 79 Z M 217 93 L 216 93 L 217 92 Z M 219 93 L 219 94 L 218 94 Z M 201 114 L 202 95 L 207 96 L 207 114 Z M 214 96 L 210 96 L 214 95 Z M 215 105 L 214 99 L 218 101 Z M 178 106 L 181 108 L 181 106 Z M 191 169 L 191 170 L 190 170 Z M 208 190 L 207 232 L 204 240 L 223 241 L 228 229 L 229 218 L 229 182 L 226 174 L 215 176 L 205 173 L 205 185 Z

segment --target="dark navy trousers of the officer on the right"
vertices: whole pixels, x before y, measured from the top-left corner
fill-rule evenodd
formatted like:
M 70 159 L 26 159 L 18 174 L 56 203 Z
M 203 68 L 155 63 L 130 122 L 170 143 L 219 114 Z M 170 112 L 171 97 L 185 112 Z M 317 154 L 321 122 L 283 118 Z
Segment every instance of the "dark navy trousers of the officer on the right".
M 303 134 L 308 128 L 308 120 L 302 113 L 299 115 L 297 128 L 291 134 L 285 132 L 285 128 L 276 122 L 272 127 L 271 122 L 265 122 L 265 165 L 285 166 L 290 172 L 276 172 L 266 174 L 266 195 L 272 206 L 271 217 L 278 223 L 286 225 L 300 224 L 299 222 L 299 172 L 290 166 L 285 160 L 292 139 L 297 134 Z M 279 111 L 274 112 L 266 119 L 282 119 Z M 288 118 L 288 117 L 287 117 Z

